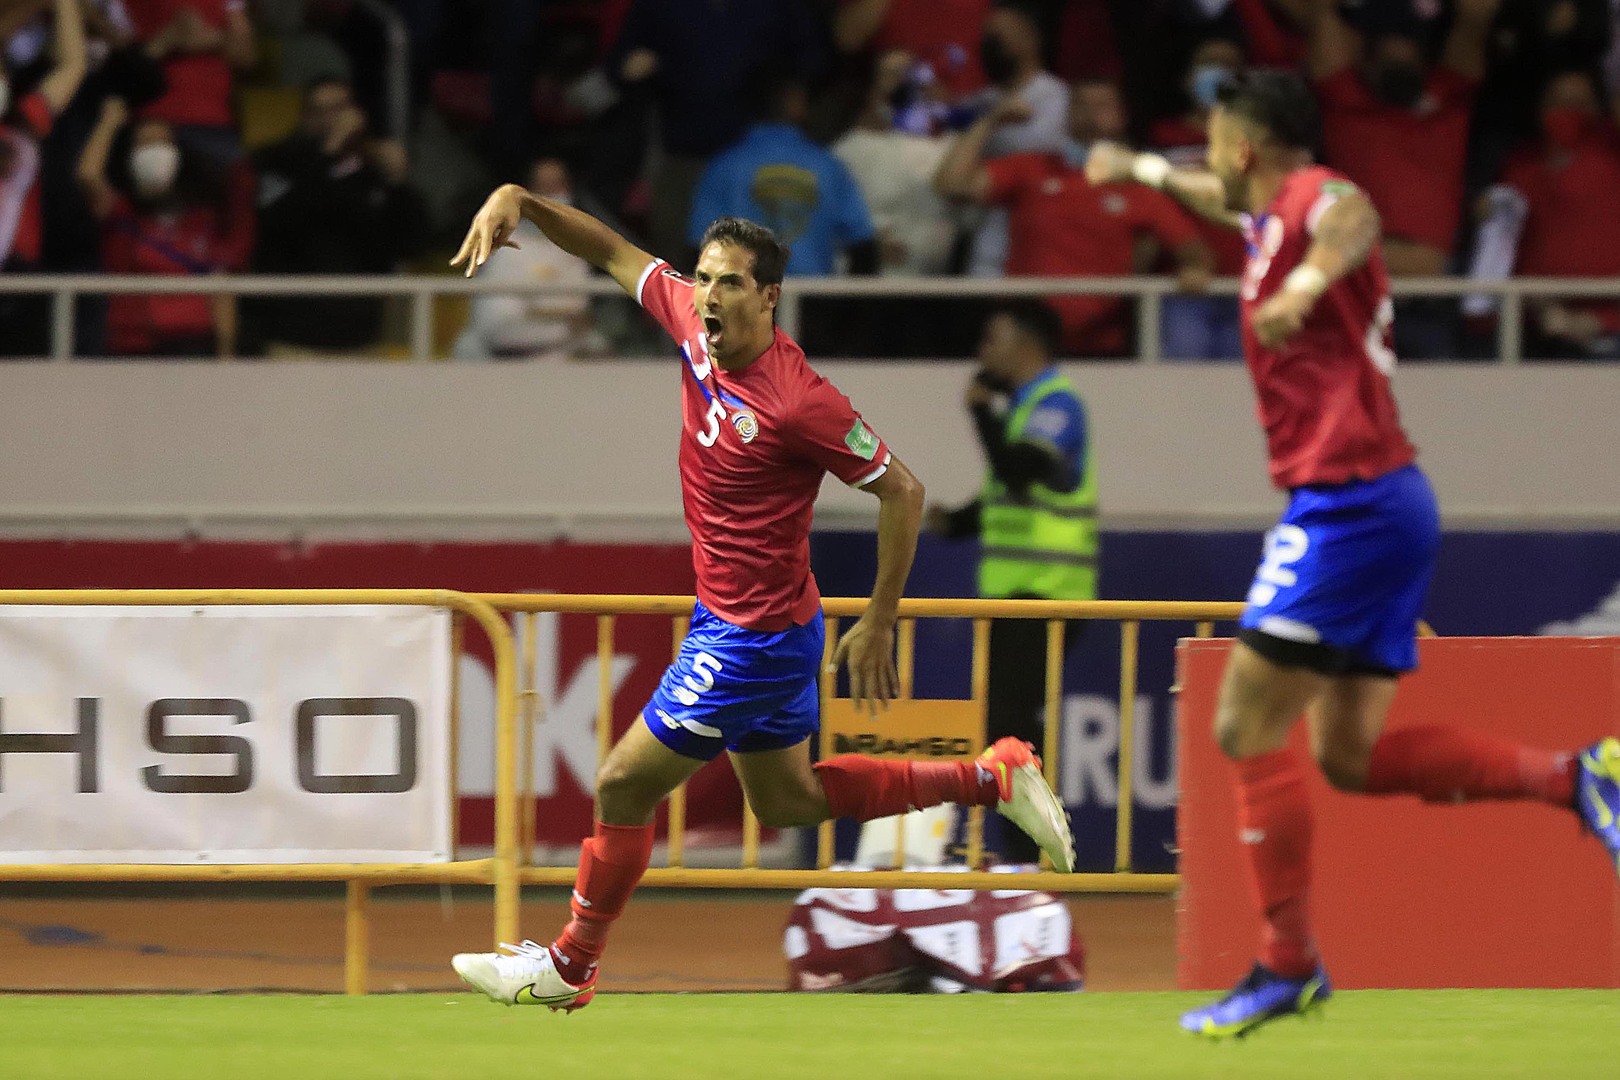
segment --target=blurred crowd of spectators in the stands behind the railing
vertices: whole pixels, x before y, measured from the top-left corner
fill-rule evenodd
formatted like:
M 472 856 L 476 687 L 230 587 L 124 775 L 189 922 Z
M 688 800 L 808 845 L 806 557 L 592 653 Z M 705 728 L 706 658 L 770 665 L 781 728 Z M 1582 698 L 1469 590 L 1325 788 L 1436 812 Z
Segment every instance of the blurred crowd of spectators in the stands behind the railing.
M 1367 189 L 1396 277 L 1612 279 L 1534 298 L 1524 351 L 1620 358 L 1620 0 L 0 0 L 8 274 L 446 274 L 499 181 L 570 199 L 688 267 L 718 215 L 791 275 L 1160 274 L 1165 356 L 1239 355 L 1236 233 L 1097 139 L 1202 157 L 1244 66 L 1299 70 L 1320 157 Z M 518 236 L 520 243 L 523 236 Z M 509 282 L 582 282 L 536 236 Z M 583 295 L 442 301 L 457 359 L 651 348 Z M 1072 356 L 1137 351 L 1124 298 L 1050 301 Z M 397 304 L 81 296 L 78 351 L 389 355 Z M 959 356 L 962 298 L 807 298 L 812 355 Z M 1484 358 L 1489 295 L 1398 304 L 1406 359 Z M 0 293 L 0 353 L 49 351 L 49 295 Z

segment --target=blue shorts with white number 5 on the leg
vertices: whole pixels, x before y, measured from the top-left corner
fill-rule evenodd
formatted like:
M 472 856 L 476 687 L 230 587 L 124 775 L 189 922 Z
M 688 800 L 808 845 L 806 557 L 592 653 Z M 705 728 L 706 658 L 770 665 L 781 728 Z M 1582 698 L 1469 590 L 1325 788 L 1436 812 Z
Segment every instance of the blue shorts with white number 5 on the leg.
M 664 670 L 642 719 L 682 758 L 713 761 L 802 743 L 821 727 L 820 672 L 826 623 L 761 631 L 726 622 L 698 602 L 680 654 Z

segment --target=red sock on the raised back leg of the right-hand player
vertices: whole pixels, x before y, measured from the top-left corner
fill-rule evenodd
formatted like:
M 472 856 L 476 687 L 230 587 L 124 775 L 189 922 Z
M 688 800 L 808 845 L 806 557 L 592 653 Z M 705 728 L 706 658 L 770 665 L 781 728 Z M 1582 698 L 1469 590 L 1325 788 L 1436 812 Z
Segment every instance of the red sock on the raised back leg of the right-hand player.
M 1476 798 L 1575 801 L 1571 753 L 1533 750 L 1458 727 L 1414 724 L 1379 737 L 1367 766 L 1369 795 L 1418 795 L 1430 803 Z

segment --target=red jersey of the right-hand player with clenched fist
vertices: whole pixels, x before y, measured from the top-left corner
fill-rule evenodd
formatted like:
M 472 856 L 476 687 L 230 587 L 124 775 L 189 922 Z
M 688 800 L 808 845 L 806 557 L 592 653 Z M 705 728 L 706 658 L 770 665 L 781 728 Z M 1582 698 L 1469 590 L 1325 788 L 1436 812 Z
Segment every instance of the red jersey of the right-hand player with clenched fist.
M 1395 308 L 1377 246 L 1328 285 L 1291 338 L 1264 348 L 1254 335 L 1256 309 L 1304 261 L 1322 214 L 1351 191 L 1341 173 L 1312 165 L 1290 173 L 1264 214 L 1244 215 L 1243 350 L 1278 487 L 1374 479 L 1418 455 L 1390 392 Z

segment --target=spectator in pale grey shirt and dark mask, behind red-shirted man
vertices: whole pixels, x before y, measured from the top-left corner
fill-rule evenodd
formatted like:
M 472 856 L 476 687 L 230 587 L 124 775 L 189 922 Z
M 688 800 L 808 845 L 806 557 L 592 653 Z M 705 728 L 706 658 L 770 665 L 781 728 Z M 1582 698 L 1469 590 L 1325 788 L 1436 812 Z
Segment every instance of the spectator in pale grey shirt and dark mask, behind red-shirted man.
M 1014 102 L 1017 107 L 998 113 L 980 147 L 988 159 L 1008 154 L 1051 154 L 1063 149 L 1068 138 L 1069 87 L 1042 62 L 1043 42 L 1037 11 L 1016 0 L 998 0 L 985 18 L 978 39 L 978 62 L 990 87 L 978 96 L 980 115 Z M 1008 214 L 991 207 L 975 228 L 967 254 L 967 272 L 974 277 L 1001 277 L 1009 251 Z

